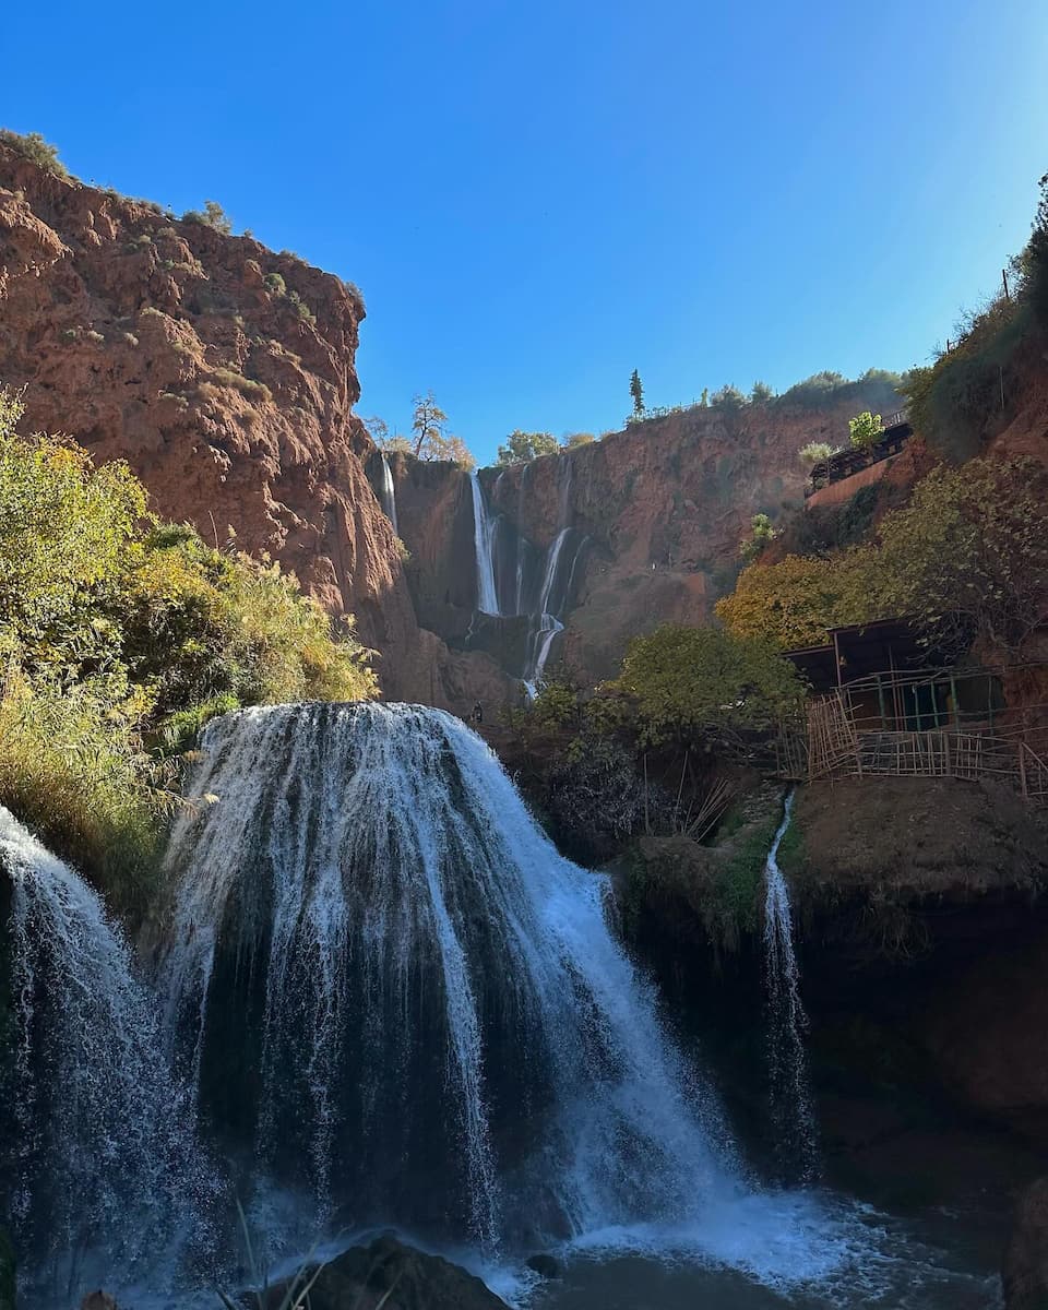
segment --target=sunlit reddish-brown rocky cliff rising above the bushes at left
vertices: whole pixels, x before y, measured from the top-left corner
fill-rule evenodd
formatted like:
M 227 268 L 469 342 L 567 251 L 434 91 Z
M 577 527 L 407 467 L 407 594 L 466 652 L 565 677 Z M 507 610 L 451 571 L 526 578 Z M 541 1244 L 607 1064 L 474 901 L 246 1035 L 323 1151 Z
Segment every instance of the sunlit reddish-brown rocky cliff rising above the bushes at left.
M 28 430 L 124 458 L 153 508 L 269 553 L 379 648 L 386 696 L 461 709 L 485 662 L 419 629 L 352 414 L 355 288 L 0 145 L 0 381 Z M 476 669 L 476 675 L 470 671 Z

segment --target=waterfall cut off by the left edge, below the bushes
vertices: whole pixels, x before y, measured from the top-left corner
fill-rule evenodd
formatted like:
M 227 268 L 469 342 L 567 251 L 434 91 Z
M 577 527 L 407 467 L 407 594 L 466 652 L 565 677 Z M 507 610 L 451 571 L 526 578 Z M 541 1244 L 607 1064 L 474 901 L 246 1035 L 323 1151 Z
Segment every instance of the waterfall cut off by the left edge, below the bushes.
M 13 1153 L 0 1142 L 0 1159 L 24 1290 L 69 1305 L 101 1281 L 162 1290 L 181 1252 L 199 1268 L 212 1246 L 215 1183 L 149 994 L 98 896 L 3 807 L 0 870 L 14 1020 Z

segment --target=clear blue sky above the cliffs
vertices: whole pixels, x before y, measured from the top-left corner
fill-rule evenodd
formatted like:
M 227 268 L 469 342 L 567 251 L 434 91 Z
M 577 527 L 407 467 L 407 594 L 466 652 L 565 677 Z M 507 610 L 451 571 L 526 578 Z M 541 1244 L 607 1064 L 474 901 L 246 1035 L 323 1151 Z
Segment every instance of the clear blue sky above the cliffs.
M 356 282 L 360 413 L 482 462 L 926 360 L 1028 234 L 1045 0 L 10 3 L 0 122 Z

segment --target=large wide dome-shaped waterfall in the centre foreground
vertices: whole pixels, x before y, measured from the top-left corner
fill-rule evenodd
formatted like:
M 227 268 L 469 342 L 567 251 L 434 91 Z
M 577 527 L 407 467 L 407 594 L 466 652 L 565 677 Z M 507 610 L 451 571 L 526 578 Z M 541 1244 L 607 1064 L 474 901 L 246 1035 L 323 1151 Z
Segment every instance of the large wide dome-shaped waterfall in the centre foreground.
M 200 752 L 190 794 L 217 800 L 172 836 L 166 1035 L 259 1188 L 489 1251 L 741 1195 L 715 1096 L 609 931 L 608 879 L 557 854 L 465 724 L 252 709 Z

